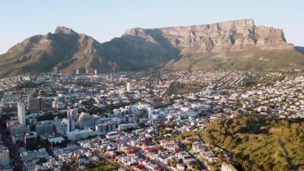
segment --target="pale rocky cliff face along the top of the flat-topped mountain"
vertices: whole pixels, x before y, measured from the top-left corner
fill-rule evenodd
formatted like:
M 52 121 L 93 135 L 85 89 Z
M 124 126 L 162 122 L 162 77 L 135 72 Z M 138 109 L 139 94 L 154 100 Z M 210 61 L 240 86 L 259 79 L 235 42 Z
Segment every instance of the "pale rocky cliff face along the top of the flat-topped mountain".
M 222 52 L 259 48 L 292 48 L 281 29 L 255 26 L 253 19 L 241 19 L 214 24 L 164 27 L 153 29 L 132 28 L 124 35 L 146 38 L 156 43 L 155 37 L 164 37 L 181 52 Z

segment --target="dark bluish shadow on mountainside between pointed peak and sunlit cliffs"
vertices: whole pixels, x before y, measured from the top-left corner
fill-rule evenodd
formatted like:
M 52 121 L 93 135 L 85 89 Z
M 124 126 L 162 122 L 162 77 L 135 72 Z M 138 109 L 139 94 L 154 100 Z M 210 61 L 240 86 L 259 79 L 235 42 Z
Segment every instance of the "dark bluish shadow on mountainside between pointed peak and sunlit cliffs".
M 119 70 L 144 70 L 159 67 L 170 60 L 180 58 L 180 50 L 174 47 L 159 30 L 148 30 L 150 37 L 123 35 L 101 44 L 103 56 L 115 62 Z

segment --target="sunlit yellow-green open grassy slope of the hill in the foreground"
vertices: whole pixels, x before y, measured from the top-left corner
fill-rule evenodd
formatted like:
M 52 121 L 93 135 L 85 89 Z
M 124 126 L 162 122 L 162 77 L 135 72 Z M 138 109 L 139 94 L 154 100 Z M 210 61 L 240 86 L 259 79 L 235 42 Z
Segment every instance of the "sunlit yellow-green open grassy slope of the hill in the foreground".
M 248 136 L 248 141 L 236 143 L 231 151 L 248 157 L 248 160 L 254 160 L 264 167 L 274 163 L 272 168 L 269 167 L 270 170 L 292 169 L 304 162 L 304 141 L 284 143 L 280 139 L 281 134 L 275 129 L 271 130 L 271 134 L 238 133 L 237 136 L 240 138 Z M 298 169 L 304 168 L 300 166 Z

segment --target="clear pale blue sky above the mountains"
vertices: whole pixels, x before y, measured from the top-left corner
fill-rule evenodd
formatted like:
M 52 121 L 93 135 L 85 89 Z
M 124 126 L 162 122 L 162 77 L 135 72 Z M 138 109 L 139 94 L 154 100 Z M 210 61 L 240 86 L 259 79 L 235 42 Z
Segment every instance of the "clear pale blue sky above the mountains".
M 104 42 L 132 27 L 241 18 L 282 28 L 288 42 L 304 46 L 304 0 L 0 0 L 0 53 L 57 25 Z

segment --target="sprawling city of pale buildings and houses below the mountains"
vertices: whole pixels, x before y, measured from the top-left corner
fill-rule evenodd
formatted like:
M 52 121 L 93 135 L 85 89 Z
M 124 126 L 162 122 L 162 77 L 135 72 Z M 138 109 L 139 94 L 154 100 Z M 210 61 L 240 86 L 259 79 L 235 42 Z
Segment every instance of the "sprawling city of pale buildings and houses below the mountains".
M 300 72 L 36 73 L 0 85 L 3 169 L 237 170 L 230 145 L 304 117 Z M 231 135 L 212 130 L 220 121 L 235 122 Z

